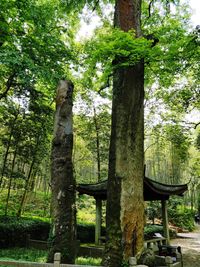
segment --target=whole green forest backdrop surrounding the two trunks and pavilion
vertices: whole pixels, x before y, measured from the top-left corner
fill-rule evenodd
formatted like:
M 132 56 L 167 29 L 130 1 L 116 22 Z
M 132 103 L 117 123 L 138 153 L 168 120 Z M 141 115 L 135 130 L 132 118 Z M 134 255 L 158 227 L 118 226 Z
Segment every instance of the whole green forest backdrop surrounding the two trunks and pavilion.
M 188 183 L 182 204 L 200 212 L 200 26 L 191 23 L 187 1 L 144 0 L 137 35 L 137 29 L 120 29 L 117 20 L 113 27 L 114 2 L 1 1 L 2 215 L 50 217 L 56 88 L 63 79 L 74 85 L 76 184 L 108 178 L 116 75 L 139 64 L 144 67 L 145 175 L 167 184 Z M 119 99 L 115 105 L 118 110 Z M 34 214 L 38 198 L 43 204 Z

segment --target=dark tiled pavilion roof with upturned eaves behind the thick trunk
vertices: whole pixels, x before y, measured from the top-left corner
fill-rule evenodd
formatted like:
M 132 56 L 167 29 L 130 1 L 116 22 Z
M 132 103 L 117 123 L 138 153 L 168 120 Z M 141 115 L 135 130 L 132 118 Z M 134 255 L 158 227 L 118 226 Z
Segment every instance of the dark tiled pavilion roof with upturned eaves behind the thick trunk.
M 167 200 L 171 195 L 182 196 L 188 190 L 187 184 L 169 185 L 144 177 L 144 200 Z M 105 200 L 107 198 L 107 180 L 96 184 L 79 184 L 79 194 L 87 194 L 94 198 Z

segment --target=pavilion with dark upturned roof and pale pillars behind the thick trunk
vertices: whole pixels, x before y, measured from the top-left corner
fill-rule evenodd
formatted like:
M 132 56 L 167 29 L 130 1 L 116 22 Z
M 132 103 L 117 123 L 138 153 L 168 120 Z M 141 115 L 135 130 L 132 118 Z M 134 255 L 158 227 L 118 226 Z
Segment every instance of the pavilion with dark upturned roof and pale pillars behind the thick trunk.
M 167 200 L 172 195 L 183 196 L 188 190 L 187 184 L 169 185 L 163 184 L 147 177 L 144 177 L 144 201 L 160 200 L 162 204 L 162 221 L 164 237 L 169 244 L 169 227 L 167 214 Z M 102 200 L 107 199 L 107 180 L 96 184 L 79 184 L 77 191 L 80 195 L 87 194 L 93 196 L 96 200 L 96 225 L 95 225 L 95 243 L 99 244 L 101 236 L 101 216 L 102 216 Z

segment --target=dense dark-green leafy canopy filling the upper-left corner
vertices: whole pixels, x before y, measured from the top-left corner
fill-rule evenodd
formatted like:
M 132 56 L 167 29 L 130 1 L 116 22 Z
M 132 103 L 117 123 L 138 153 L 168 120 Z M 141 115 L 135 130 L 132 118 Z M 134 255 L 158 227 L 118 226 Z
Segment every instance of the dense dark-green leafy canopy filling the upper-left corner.
M 59 1 L 2 1 L 0 18 L 7 27 L 0 49 L 0 92 L 6 91 L 11 76 L 12 94 L 24 94 L 35 84 L 55 88 L 74 57 L 71 25 L 64 17 Z

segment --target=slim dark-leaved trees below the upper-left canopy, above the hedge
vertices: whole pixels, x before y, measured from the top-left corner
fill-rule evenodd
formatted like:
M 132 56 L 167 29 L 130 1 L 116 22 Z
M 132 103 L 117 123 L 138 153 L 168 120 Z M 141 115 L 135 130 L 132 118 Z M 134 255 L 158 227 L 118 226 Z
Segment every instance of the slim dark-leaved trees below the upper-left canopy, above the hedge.
M 34 89 L 32 89 L 33 93 Z M 36 93 L 35 93 L 36 96 Z M 17 99 L 20 102 L 20 98 Z M 15 99 L 16 101 L 16 99 Z M 17 104 L 7 101 L 1 105 L 1 125 L 4 134 L 0 141 L 4 147 L 1 164 L 2 188 L 8 188 L 5 213 L 9 214 L 11 189 L 19 188 L 20 203 L 16 203 L 18 216 L 23 212 L 27 193 L 34 184 L 37 171 L 48 157 L 49 134 L 52 129 L 52 107 L 42 94 L 40 98 L 26 99 Z M 36 171 L 37 170 L 37 171 Z

